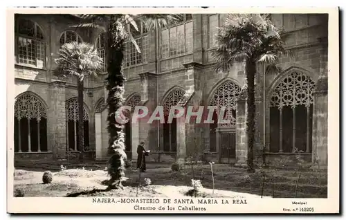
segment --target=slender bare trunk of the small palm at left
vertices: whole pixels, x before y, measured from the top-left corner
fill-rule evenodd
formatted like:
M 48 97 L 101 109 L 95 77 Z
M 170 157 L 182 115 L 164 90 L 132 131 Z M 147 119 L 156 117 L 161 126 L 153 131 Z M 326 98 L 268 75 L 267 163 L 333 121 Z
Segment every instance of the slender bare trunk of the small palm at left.
M 84 120 L 83 120 L 83 90 L 84 85 L 83 81 L 78 79 L 77 82 L 77 90 L 78 90 L 78 147 L 80 149 L 81 159 L 84 158 Z

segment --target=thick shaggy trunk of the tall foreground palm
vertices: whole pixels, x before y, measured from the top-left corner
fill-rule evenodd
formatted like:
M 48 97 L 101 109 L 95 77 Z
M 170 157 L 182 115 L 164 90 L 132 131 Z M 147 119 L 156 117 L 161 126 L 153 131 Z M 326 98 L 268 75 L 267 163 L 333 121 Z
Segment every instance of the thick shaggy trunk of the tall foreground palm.
M 119 15 L 121 16 L 121 15 Z M 108 27 L 109 55 L 108 55 L 108 77 L 107 90 L 108 98 L 108 132 L 109 132 L 109 175 L 111 180 L 109 185 L 117 181 L 116 186 L 121 187 L 122 177 L 125 176 L 125 134 L 124 126 L 116 121 L 116 111 L 122 106 L 124 101 L 125 77 L 122 73 L 122 59 L 124 57 L 125 35 L 123 27 L 117 21 L 118 15 L 110 15 Z

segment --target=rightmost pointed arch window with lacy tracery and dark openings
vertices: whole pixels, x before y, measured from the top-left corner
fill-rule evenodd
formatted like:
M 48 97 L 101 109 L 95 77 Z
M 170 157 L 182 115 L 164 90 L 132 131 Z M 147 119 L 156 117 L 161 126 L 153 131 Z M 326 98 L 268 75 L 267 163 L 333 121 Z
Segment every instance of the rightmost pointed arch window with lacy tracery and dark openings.
M 315 82 L 293 72 L 275 87 L 270 107 L 270 152 L 311 153 Z

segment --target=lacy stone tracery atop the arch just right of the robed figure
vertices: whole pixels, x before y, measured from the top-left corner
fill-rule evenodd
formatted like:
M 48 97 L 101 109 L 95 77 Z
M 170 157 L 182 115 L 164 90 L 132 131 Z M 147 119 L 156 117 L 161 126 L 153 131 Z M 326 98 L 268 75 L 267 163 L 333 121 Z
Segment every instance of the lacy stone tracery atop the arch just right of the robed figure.
M 163 112 L 165 116 L 170 112 L 170 107 L 176 106 L 183 95 L 185 94 L 185 89 L 181 86 L 173 86 L 170 90 L 168 90 L 163 99 L 161 100 L 161 105 L 163 106 Z

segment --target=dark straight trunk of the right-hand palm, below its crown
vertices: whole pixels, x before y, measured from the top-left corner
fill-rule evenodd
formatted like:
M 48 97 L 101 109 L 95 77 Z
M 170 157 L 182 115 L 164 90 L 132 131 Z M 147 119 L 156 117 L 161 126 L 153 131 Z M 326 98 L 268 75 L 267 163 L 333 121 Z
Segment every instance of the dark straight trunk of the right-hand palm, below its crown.
M 246 78 L 248 84 L 248 99 L 246 101 L 248 114 L 246 117 L 246 133 L 248 134 L 248 172 L 255 172 L 253 165 L 253 142 L 255 139 L 255 72 L 256 63 L 253 59 L 246 61 Z

